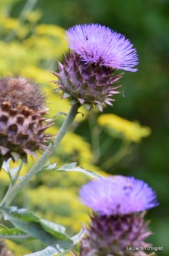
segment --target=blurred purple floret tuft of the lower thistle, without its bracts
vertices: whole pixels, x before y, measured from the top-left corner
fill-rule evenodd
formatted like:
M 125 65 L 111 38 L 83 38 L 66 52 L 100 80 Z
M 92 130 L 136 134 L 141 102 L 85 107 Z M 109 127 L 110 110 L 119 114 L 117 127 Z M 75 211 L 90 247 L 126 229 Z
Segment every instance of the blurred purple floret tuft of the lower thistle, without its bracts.
M 86 206 L 105 216 L 142 212 L 158 205 L 151 187 L 133 177 L 92 180 L 79 195 Z

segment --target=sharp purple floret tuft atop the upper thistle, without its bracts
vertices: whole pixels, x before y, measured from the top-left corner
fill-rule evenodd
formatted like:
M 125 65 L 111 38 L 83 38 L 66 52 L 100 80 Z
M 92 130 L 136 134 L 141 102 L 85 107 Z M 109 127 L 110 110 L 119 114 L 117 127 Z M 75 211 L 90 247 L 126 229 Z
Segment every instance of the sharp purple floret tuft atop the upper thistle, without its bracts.
M 120 33 L 99 24 L 75 25 L 66 31 L 70 48 L 82 61 L 135 72 L 138 56 L 133 44 Z

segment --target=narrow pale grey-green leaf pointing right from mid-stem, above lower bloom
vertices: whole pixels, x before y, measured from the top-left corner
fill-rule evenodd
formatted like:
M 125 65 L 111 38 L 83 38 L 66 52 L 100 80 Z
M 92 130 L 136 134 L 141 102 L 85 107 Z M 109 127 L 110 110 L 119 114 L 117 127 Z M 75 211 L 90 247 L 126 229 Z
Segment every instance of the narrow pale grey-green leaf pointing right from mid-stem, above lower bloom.
M 92 178 L 103 178 L 100 174 L 97 172 L 93 172 L 92 170 L 85 170 L 84 168 L 81 167 L 75 167 L 77 163 L 70 163 L 66 164 L 62 167 L 60 167 L 57 171 L 59 172 L 83 172 L 84 174 L 92 177 Z

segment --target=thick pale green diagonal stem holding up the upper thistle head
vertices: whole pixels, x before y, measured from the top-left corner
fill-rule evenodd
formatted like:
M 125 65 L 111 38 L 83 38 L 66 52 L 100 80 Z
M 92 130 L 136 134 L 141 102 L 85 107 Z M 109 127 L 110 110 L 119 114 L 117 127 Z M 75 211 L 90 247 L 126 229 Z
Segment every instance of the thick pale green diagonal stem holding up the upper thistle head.
M 44 167 L 47 159 L 49 159 L 51 154 L 54 152 L 55 148 L 57 148 L 57 146 L 59 146 L 60 141 L 62 140 L 64 135 L 66 135 L 66 133 L 70 129 L 70 125 L 72 124 L 73 120 L 75 119 L 77 110 L 78 110 L 78 106 L 77 106 L 77 104 L 74 104 L 72 106 L 72 108 L 70 109 L 70 112 L 69 112 L 68 116 L 66 117 L 66 120 L 64 120 L 64 123 L 60 127 L 59 133 L 55 137 L 53 143 L 49 144 L 49 146 L 47 147 L 45 152 L 42 154 L 40 159 L 38 159 L 38 161 L 33 165 L 33 167 L 29 170 L 29 172 L 27 172 L 27 174 L 25 176 L 23 176 L 23 178 L 21 178 L 21 180 L 18 183 L 12 185 L 12 187 L 10 187 L 10 189 L 8 189 L 0 206 L 2 206 L 2 205 L 8 206 L 10 204 L 10 202 L 12 202 L 14 197 L 16 197 L 16 195 L 21 190 L 21 188 L 23 186 L 25 186 L 29 182 L 29 180 L 31 180 L 31 178 L 42 169 L 42 167 Z

